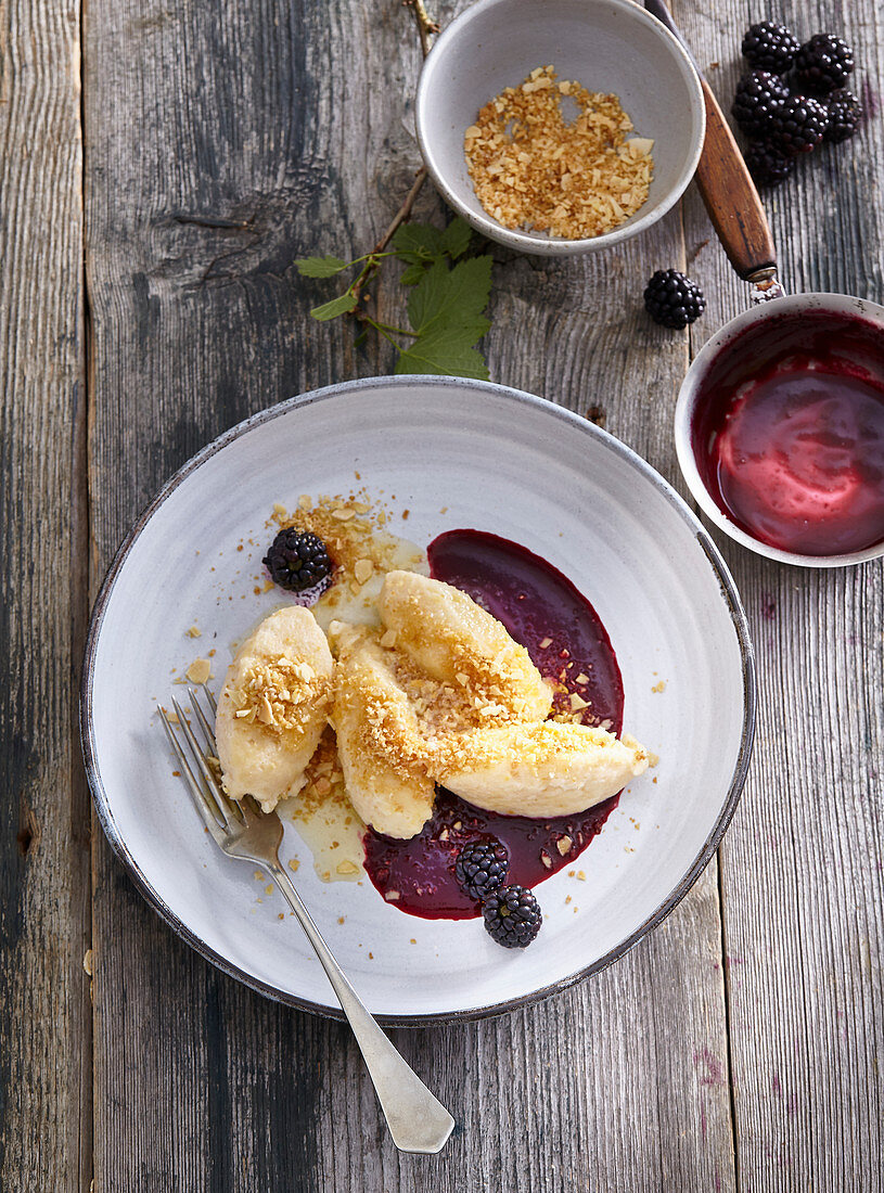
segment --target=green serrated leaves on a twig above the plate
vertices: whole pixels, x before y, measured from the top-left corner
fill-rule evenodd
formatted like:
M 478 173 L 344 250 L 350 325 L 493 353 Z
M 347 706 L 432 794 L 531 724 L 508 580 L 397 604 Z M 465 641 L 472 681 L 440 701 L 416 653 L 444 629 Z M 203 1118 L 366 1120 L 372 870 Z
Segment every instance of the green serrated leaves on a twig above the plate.
M 295 265 L 305 278 L 332 278 L 361 265 L 344 293 L 314 307 L 310 314 L 321 322 L 354 314 L 396 348 L 397 373 L 441 373 L 487 381 L 488 365 L 476 344 L 492 326 L 484 314 L 492 290 L 492 258 L 469 255 L 471 240 L 470 225 L 459 216 L 444 229 L 403 223 L 390 239 L 387 252 L 369 253 L 353 261 L 302 256 Z M 360 305 L 366 284 L 390 256 L 404 265 L 400 280 L 410 291 L 406 307 L 410 329 L 382 323 Z M 364 335 L 365 332 L 357 342 Z

